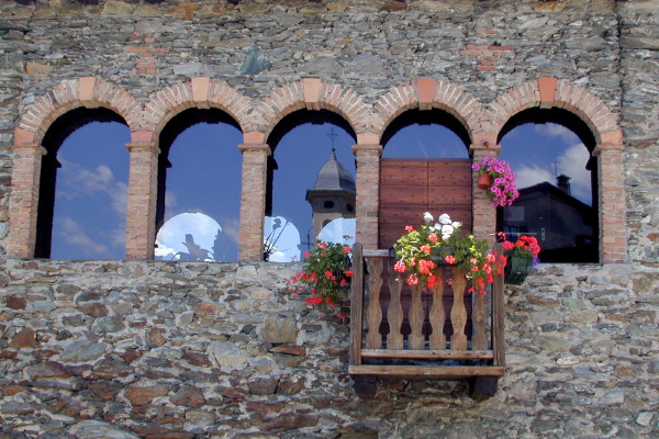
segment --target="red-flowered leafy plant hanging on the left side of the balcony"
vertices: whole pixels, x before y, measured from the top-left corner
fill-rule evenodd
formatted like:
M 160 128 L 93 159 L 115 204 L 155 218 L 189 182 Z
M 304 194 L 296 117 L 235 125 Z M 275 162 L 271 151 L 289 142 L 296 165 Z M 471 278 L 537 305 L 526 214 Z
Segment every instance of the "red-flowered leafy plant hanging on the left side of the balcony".
M 320 241 L 311 251 L 304 252 L 302 271 L 287 281 L 289 291 L 295 295 L 308 291 L 311 295 L 306 299 L 308 305 L 327 306 L 335 311 L 336 316 L 345 318 L 345 314 L 338 311 L 338 303 L 348 296 L 353 277 L 351 251 L 350 247 L 338 243 Z

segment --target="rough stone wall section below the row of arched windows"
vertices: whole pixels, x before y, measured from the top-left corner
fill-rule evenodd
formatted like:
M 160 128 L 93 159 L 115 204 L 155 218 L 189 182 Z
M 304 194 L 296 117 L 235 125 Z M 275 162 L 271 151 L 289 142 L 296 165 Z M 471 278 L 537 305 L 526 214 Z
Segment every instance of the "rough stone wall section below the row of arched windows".
M 294 268 L 3 261 L 0 436 L 659 432 L 655 269 L 545 264 L 510 288 L 506 373 L 476 402 L 450 381 L 380 382 L 373 398 L 356 396 L 348 326 L 288 293 Z

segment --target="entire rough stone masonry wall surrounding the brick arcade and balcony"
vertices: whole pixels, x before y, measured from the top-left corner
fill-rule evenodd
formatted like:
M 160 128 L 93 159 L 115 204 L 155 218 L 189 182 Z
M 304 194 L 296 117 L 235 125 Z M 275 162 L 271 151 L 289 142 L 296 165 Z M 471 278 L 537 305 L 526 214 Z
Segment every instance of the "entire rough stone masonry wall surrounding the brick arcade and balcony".
M 488 105 L 581 86 L 624 133 L 627 263 L 541 264 L 506 291 L 494 397 L 382 382 L 361 399 L 348 327 L 266 262 L 0 260 L 0 437 L 659 437 L 659 5 L 565 1 L 74 1 L 0 4 L 0 244 L 14 128 L 65 80 L 146 104 L 192 77 L 250 99 L 320 77 L 368 105 L 415 78 Z M 496 49 L 491 49 L 493 46 Z

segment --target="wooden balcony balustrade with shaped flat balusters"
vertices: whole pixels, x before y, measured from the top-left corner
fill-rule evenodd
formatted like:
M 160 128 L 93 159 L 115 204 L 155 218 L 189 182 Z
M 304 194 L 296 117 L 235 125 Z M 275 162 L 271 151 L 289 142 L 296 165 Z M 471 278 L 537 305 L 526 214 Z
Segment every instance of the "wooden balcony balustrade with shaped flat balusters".
M 472 393 L 493 394 L 505 367 L 503 277 L 481 296 L 463 269 L 440 264 L 445 281 L 428 289 L 392 267 L 389 251 L 354 246 L 349 373 L 474 379 Z

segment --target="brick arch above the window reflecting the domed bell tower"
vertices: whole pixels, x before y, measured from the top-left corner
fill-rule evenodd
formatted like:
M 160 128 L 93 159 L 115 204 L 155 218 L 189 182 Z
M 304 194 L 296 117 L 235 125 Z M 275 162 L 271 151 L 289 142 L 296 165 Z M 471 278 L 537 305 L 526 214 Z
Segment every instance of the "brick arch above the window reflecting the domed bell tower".
M 302 78 L 280 87 L 263 100 L 253 114 L 252 131 L 261 133 L 265 142 L 279 121 L 302 109 L 338 113 L 358 137 L 372 127 L 371 109 L 355 91 L 321 78 Z

